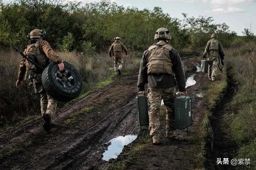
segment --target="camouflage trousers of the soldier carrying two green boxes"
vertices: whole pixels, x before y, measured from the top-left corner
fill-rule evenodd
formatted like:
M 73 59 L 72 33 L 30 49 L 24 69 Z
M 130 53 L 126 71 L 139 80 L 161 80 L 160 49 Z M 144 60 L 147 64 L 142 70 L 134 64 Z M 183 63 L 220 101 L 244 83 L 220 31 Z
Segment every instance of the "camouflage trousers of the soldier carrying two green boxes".
M 166 112 L 166 131 L 172 130 L 174 121 L 174 88 L 148 88 L 148 102 L 149 107 L 149 128 L 150 135 L 158 136 L 160 128 L 160 106 L 161 101 L 164 100 Z

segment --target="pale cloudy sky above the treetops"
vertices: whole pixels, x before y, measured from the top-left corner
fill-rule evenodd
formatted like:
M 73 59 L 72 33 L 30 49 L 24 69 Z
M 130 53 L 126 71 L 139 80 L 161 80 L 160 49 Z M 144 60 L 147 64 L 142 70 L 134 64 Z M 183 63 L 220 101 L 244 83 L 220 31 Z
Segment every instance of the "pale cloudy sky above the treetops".
M 100 0 L 77 0 L 83 3 Z M 182 19 L 182 13 L 188 16 L 212 16 L 215 23 L 226 23 L 231 31 L 242 35 L 244 28 L 256 34 L 256 0 L 112 0 L 125 7 L 148 8 L 161 7 L 165 13 Z

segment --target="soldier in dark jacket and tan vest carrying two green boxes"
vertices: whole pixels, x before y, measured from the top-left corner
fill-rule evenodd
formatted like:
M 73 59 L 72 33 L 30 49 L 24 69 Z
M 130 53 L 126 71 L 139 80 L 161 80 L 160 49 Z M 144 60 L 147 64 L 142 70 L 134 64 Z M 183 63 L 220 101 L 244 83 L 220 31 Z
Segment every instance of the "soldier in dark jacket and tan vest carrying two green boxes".
M 144 51 L 138 76 L 138 93 L 144 94 L 144 85 L 148 83 L 149 127 L 153 144 L 160 143 L 160 105 L 162 99 L 166 109 L 166 137 L 172 138 L 172 120 L 174 117 L 174 87 L 176 81 L 180 94 L 186 94 L 185 74 L 178 52 L 168 44 L 171 34 L 166 28 L 156 31 L 154 45 Z M 173 74 L 174 73 L 174 74 Z

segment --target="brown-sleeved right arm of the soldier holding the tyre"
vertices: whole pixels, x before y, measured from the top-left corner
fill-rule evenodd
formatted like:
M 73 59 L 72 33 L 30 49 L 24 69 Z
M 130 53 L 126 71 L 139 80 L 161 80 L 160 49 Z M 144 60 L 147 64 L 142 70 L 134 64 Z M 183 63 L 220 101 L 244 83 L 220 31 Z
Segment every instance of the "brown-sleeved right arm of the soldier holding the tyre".
M 57 53 L 55 53 L 55 51 L 52 50 L 52 48 L 50 47 L 50 44 L 47 41 L 42 41 L 41 47 L 42 47 L 42 50 L 44 51 L 44 53 L 46 54 L 46 56 L 51 61 L 53 61 L 54 63 L 58 63 L 58 64 L 63 62 L 61 57 L 59 55 L 57 55 Z

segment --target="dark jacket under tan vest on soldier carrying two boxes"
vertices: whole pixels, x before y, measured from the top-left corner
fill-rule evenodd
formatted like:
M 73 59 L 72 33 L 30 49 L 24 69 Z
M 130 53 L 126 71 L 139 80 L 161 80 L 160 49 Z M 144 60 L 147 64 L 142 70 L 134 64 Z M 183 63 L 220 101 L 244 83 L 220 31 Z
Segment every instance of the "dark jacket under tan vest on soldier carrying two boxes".
M 172 62 L 172 71 L 175 74 L 176 81 L 178 83 L 178 88 L 180 92 L 186 91 L 186 80 L 183 70 L 183 64 L 180 59 L 180 55 L 175 49 L 169 51 L 169 57 Z M 148 58 L 149 50 L 144 51 L 142 60 L 140 63 L 140 71 L 138 76 L 138 91 L 144 91 L 144 85 L 148 83 L 150 88 L 168 88 L 176 86 L 176 81 L 173 74 L 148 74 Z

